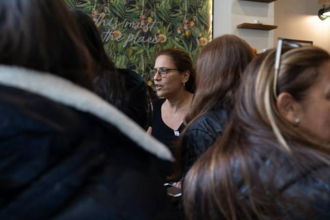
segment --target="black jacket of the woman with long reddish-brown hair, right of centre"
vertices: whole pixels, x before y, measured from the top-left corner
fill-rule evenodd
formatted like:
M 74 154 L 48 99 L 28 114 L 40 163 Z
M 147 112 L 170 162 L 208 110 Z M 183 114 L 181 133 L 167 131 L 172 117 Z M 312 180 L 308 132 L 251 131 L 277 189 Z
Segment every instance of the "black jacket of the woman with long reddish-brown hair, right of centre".
M 224 109 L 211 111 L 191 124 L 182 142 L 181 174 L 184 176 L 196 160 L 221 136 L 228 123 Z

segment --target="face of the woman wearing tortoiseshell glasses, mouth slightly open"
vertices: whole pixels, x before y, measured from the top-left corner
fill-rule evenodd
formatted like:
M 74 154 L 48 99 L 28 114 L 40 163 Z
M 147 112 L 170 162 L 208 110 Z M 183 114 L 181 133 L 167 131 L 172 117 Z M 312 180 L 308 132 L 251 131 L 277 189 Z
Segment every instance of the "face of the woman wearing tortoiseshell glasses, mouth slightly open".
M 158 70 L 159 68 L 177 69 L 173 64 L 171 57 L 166 55 L 160 55 L 157 57 L 154 69 Z M 156 73 L 153 79 L 158 97 L 168 98 L 175 96 L 181 90 L 184 90 L 184 76 L 179 70 L 168 70 L 166 77 L 164 78 L 161 77 L 159 73 Z

